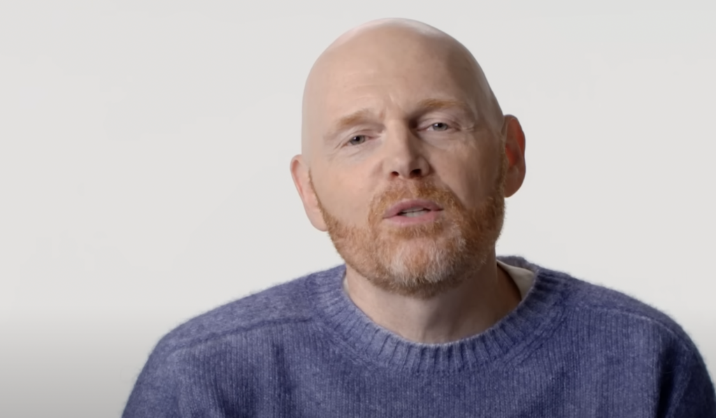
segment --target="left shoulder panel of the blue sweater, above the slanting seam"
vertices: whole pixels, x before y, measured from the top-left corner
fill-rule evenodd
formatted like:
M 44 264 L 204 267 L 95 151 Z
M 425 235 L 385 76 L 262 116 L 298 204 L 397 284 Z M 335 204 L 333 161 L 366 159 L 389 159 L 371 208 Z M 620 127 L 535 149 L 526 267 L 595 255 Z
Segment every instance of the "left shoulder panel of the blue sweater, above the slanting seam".
M 155 347 L 165 355 L 252 331 L 266 331 L 311 320 L 306 282 L 309 273 L 195 316 L 165 334 Z

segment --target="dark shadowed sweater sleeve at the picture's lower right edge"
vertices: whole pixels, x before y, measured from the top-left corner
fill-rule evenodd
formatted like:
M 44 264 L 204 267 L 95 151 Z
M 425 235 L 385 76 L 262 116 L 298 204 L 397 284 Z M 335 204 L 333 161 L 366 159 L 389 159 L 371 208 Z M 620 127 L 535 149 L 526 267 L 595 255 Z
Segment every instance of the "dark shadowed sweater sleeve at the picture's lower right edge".
M 667 418 L 716 418 L 716 392 L 706 364 L 698 351 L 691 351 L 685 361 L 684 384 L 677 387 Z

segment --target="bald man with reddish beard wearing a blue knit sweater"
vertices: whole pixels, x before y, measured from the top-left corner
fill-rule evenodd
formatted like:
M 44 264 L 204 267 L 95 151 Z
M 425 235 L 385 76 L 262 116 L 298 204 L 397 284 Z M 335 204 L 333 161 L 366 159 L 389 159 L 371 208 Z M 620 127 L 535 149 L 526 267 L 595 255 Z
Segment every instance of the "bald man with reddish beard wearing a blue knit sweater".
M 716 417 L 668 316 L 495 256 L 525 172 L 462 44 L 407 20 L 347 32 L 311 69 L 291 160 L 344 265 L 171 331 L 123 416 Z

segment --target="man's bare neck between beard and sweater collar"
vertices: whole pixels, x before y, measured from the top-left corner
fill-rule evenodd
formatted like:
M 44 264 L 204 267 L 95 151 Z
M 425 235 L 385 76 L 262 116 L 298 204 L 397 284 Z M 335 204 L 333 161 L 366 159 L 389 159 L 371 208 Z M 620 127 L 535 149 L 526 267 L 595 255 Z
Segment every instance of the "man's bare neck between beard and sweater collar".
M 350 266 L 348 296 L 372 321 L 402 338 L 425 344 L 457 341 L 493 326 L 520 302 L 520 292 L 495 256 L 470 271 L 459 286 L 431 298 L 390 293 Z

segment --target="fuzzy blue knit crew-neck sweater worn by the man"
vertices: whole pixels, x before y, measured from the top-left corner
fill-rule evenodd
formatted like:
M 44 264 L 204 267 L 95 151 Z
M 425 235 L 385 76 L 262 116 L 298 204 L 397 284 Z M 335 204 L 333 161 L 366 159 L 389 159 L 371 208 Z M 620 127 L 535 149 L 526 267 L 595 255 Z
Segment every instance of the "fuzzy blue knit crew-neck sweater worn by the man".
M 716 417 L 704 361 L 668 316 L 500 260 L 535 271 L 531 290 L 448 344 L 372 323 L 344 266 L 228 303 L 160 340 L 123 417 Z

